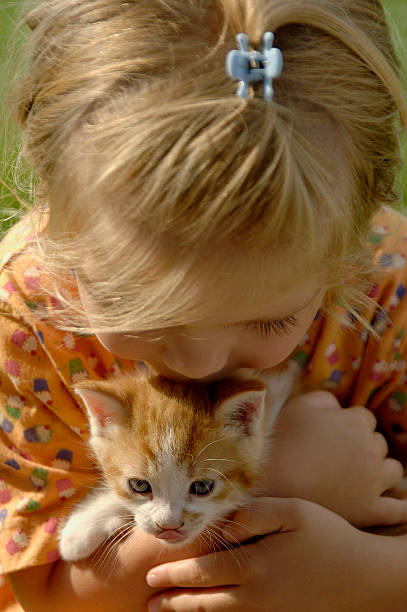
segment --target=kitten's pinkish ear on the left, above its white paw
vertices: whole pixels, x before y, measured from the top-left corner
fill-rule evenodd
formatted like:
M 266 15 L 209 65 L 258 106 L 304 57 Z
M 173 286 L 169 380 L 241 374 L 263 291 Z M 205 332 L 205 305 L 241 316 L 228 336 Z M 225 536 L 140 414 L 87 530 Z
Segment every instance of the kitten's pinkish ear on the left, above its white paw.
M 82 398 L 87 408 L 92 435 L 103 435 L 106 425 L 123 420 L 124 407 L 111 395 L 86 388 L 77 388 L 75 393 Z

